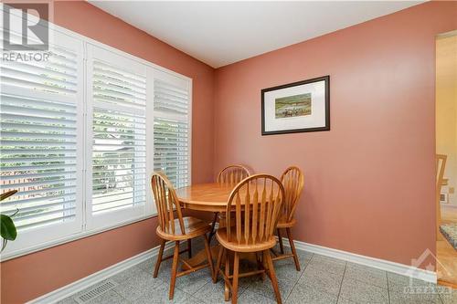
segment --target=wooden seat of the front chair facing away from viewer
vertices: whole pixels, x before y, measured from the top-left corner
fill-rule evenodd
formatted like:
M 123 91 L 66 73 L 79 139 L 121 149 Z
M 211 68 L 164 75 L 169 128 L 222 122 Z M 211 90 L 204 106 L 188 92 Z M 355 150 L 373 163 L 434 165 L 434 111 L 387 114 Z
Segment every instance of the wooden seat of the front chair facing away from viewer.
M 237 231 L 235 227 L 231 227 L 231 238 L 236 239 Z M 228 250 L 236 251 L 236 252 L 258 252 L 270 249 L 276 245 L 276 238 L 271 236 L 267 241 L 256 241 L 256 244 L 252 244 L 252 239 L 249 240 L 248 244 L 245 242 L 244 236 L 241 236 L 241 244 L 234 241 L 228 241 L 227 236 L 227 229 L 226 228 L 219 228 L 216 232 L 216 237 L 218 238 L 218 242 L 221 246 L 224 246 Z

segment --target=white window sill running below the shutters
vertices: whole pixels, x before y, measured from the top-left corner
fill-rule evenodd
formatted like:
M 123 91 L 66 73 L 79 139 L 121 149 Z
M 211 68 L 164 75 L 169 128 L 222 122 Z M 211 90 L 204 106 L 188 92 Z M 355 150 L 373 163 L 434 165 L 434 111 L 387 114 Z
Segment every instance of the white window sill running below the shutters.
M 146 219 L 149 219 L 149 218 L 153 218 L 155 216 L 157 216 L 157 214 L 141 216 L 141 217 L 135 218 L 133 220 L 120 223 L 118 225 L 112 225 L 112 226 L 104 227 L 104 228 L 101 228 L 101 229 L 93 229 L 93 230 L 90 230 L 90 231 L 84 231 L 84 232 L 80 232 L 80 233 L 75 234 L 75 235 L 61 237 L 61 238 L 56 239 L 54 241 L 43 243 L 43 244 L 40 244 L 40 245 L 37 245 L 37 246 L 30 246 L 30 247 L 27 247 L 27 248 L 24 248 L 24 249 L 21 249 L 21 250 L 16 250 L 16 251 L 11 252 L 11 253 L 5 253 L 5 254 L 2 254 L 0 256 L 0 262 L 5 262 L 5 261 L 7 261 L 9 259 L 13 259 L 13 258 L 16 258 L 16 257 L 27 256 L 29 254 L 33 254 L 33 253 L 38 252 L 38 251 L 42 251 L 42 250 L 45 250 L 45 249 L 48 249 L 48 248 L 51 248 L 51 247 L 54 247 L 54 246 L 63 245 L 63 244 L 70 243 L 70 242 L 73 242 L 73 241 L 77 241 L 77 240 L 80 240 L 80 239 L 88 237 L 88 236 L 98 235 L 98 234 L 101 234 L 103 232 L 110 231 L 110 230 L 116 229 L 116 228 L 120 228 L 120 227 L 122 227 L 124 225 L 131 225 L 133 223 L 141 222 L 143 220 L 146 220 Z

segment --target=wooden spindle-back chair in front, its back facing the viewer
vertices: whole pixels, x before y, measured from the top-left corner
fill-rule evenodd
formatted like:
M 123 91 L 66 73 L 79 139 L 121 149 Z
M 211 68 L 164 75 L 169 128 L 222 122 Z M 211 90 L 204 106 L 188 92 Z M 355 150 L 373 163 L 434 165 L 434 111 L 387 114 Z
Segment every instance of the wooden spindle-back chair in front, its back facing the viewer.
M 281 213 L 284 188 L 274 176 L 255 174 L 240 182 L 228 198 L 225 227 L 218 228 L 216 237 L 221 246 L 213 281 L 220 273 L 231 289 L 232 303 L 238 300 L 239 278 L 267 273 L 278 303 L 282 303 L 278 280 L 274 272 L 270 249 L 276 245 L 274 228 Z M 232 225 L 234 221 L 235 225 Z M 233 253 L 233 275 L 230 275 L 230 254 Z M 258 270 L 239 274 L 241 253 L 261 253 Z M 220 269 L 225 257 L 225 271 Z

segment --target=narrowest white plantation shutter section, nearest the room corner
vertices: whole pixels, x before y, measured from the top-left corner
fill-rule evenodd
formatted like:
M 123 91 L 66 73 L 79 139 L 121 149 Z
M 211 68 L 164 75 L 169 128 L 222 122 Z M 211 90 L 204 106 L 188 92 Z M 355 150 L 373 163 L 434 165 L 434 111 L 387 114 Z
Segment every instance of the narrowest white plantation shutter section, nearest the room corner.
M 190 184 L 190 81 L 154 71 L 154 171 Z

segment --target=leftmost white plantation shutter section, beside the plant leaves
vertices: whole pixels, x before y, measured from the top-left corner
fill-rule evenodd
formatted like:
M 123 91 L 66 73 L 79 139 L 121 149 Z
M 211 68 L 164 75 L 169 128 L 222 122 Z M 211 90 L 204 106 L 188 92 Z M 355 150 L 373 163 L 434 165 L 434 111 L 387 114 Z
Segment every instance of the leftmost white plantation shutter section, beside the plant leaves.
M 18 210 L 7 252 L 82 229 L 83 47 L 50 35 L 48 60 L 1 63 L 0 190 L 18 191 L 0 204 L 2 214 Z

